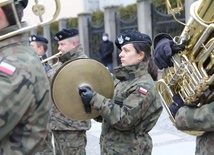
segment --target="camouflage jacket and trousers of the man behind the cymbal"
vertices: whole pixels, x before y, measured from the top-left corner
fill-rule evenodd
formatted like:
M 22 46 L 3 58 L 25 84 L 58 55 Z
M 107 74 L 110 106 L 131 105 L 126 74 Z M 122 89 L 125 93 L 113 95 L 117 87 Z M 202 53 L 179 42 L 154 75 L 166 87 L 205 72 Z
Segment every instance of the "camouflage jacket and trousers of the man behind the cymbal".
M 81 46 L 66 53 L 70 55 L 69 60 L 77 58 L 87 58 Z M 61 63 L 51 69 L 53 78 L 55 72 L 61 67 Z M 69 92 L 68 92 L 69 93 Z M 86 130 L 91 127 L 91 121 L 79 121 L 63 115 L 54 104 L 50 110 L 50 120 L 48 124 L 55 138 L 56 154 L 62 155 L 85 155 Z M 50 138 L 49 138 L 50 139 Z M 50 142 L 49 142 L 50 143 Z

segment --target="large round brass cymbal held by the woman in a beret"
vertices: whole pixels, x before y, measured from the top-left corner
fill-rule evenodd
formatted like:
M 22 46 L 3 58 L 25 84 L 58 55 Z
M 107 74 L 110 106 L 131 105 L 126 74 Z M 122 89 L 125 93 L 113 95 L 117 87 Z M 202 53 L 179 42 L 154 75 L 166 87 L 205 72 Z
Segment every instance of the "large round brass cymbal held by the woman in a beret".
M 76 120 L 97 117 L 99 114 L 93 108 L 91 113 L 85 112 L 79 95 L 79 86 L 89 86 L 106 98 L 112 98 L 114 93 L 112 75 L 100 62 L 85 58 L 65 63 L 54 75 L 51 96 L 60 112 Z

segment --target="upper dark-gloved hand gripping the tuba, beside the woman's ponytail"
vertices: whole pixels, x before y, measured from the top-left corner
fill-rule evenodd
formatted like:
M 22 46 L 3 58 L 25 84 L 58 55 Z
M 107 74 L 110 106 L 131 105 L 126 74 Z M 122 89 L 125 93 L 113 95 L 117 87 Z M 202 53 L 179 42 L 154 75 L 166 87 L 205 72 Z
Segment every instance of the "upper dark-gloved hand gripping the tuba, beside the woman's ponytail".
M 173 66 L 171 57 L 181 51 L 181 48 L 177 46 L 173 40 L 168 38 L 160 39 L 154 49 L 154 62 L 159 69 Z

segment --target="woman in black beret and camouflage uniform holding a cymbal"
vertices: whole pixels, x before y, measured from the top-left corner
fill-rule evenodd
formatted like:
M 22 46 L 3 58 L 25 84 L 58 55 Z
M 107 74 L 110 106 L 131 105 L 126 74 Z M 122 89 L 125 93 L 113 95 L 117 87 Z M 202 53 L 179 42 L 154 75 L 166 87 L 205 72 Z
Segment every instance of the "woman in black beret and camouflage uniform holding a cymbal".
M 117 37 L 115 44 L 121 50 L 122 64 L 114 68 L 113 99 L 86 86 L 79 88 L 80 96 L 84 105 L 90 104 L 103 118 L 102 155 L 151 155 L 152 139 L 148 132 L 162 112 L 154 80 L 147 71 L 148 64 L 153 64 L 148 63 L 152 61 L 152 42 L 146 34 L 127 30 Z

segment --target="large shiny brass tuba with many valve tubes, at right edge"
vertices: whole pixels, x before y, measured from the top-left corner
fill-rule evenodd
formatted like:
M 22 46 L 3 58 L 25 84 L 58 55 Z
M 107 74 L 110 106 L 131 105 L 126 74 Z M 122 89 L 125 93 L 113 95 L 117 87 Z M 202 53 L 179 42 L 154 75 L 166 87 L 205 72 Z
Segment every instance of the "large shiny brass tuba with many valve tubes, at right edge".
M 213 8 L 213 0 L 198 0 L 191 5 L 190 19 L 181 35 L 173 38 L 184 50 L 172 57 L 174 66 L 164 69 L 162 79 L 157 82 L 157 91 L 174 125 L 176 122 L 169 110 L 174 94 L 179 94 L 187 106 L 201 107 L 214 100 Z M 195 136 L 203 134 L 201 131 L 183 132 Z

